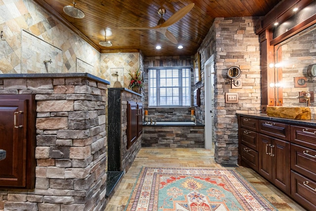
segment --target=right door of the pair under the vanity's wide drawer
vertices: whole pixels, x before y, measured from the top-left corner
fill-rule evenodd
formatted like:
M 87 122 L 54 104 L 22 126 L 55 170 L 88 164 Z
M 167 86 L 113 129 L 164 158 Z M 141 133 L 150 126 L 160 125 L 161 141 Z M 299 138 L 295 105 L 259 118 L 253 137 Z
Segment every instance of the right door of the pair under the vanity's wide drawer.
M 290 143 L 274 139 L 272 144 L 273 183 L 286 193 L 290 193 Z

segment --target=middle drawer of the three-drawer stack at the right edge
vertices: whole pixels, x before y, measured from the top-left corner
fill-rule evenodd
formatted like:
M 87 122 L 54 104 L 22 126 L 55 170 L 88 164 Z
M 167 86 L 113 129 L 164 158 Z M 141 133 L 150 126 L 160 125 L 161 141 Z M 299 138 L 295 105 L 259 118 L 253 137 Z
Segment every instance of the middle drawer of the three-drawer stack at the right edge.
M 291 144 L 291 169 L 316 181 L 316 150 Z

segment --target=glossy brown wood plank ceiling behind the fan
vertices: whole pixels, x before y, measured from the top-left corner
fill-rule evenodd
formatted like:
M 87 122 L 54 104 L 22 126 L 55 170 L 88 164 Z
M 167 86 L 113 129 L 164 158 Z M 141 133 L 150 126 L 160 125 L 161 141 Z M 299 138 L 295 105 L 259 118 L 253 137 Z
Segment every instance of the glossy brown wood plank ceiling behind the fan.
M 35 0 L 60 21 L 100 52 L 131 52 L 141 50 L 145 56 L 194 55 L 216 17 L 264 16 L 280 0 L 75 0 L 85 16 L 82 19 L 66 15 L 63 7 L 73 0 Z M 178 44 L 167 40 L 155 30 L 131 30 L 118 27 L 154 27 L 163 6 L 167 20 L 184 6 L 195 3 L 193 9 L 168 30 Z M 99 44 L 111 41 L 111 47 Z M 156 45 L 161 45 L 157 50 Z

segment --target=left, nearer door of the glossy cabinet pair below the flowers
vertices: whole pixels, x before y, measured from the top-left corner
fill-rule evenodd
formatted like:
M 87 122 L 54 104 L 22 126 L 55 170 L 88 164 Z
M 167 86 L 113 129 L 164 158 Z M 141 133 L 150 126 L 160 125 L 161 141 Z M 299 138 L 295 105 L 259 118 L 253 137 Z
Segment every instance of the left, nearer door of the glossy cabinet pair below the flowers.
M 127 107 L 127 149 L 136 141 L 137 134 L 137 104 L 129 101 Z

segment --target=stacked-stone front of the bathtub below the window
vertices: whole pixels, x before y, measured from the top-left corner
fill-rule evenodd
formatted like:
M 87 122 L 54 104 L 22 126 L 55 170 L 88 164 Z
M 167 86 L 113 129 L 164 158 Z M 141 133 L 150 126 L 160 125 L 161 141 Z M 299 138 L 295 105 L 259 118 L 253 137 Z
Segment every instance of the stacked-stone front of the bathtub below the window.
M 204 127 L 144 126 L 142 147 L 203 148 Z

